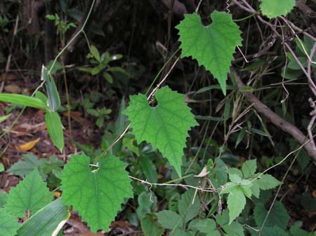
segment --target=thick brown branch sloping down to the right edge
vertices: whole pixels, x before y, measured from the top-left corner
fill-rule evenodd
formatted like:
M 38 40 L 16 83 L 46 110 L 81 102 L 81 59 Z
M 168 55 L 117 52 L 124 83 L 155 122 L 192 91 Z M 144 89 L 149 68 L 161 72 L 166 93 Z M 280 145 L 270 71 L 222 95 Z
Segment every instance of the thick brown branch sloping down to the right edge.
M 230 69 L 232 75 L 235 77 L 237 85 L 239 88 L 244 87 L 244 83 L 237 75 L 235 69 Z M 287 122 L 286 120 L 279 117 L 276 113 L 271 111 L 268 106 L 265 106 L 259 99 L 257 99 L 254 95 L 252 95 L 249 92 L 242 92 L 244 97 L 248 102 L 251 104 L 254 104 L 254 108 L 261 113 L 267 120 L 269 120 L 272 124 L 277 126 L 279 129 L 283 130 L 284 132 L 290 134 L 297 142 L 298 144 L 303 145 L 305 151 L 310 155 L 310 157 L 316 161 L 316 150 L 312 146 L 312 142 L 308 141 L 308 139 L 305 137 L 303 132 L 301 130 L 298 130 L 298 128 L 291 123 Z

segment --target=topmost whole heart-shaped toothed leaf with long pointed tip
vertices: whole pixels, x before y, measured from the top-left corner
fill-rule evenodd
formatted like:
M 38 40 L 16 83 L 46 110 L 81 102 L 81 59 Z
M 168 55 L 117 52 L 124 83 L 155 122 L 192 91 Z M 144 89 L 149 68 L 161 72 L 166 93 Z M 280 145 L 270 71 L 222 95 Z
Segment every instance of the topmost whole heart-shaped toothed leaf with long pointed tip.
M 199 65 L 211 71 L 226 95 L 227 74 L 236 46 L 242 46 L 242 32 L 228 13 L 213 11 L 211 20 L 211 25 L 204 27 L 199 15 L 185 15 L 176 27 L 180 35 L 181 57 L 192 56 Z

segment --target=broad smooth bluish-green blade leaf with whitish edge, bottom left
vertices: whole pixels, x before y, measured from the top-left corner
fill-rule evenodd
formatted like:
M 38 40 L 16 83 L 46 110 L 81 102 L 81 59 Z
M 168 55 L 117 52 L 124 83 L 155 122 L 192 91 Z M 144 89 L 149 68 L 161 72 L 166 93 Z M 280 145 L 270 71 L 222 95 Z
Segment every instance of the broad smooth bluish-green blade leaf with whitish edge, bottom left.
M 56 235 L 69 217 L 68 207 L 58 198 L 27 219 L 17 236 Z

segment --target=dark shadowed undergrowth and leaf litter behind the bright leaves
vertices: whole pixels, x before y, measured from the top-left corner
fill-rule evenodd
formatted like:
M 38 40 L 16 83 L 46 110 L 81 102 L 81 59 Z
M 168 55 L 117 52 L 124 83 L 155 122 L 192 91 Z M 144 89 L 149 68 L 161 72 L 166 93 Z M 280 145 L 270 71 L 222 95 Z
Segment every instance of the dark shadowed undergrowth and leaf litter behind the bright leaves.
M 258 1 L 248 2 L 255 9 L 259 9 Z M 82 25 L 81 19 L 86 16 L 91 3 L 91 0 L 1 1 L 0 92 L 32 94 L 41 83 L 42 64 L 49 64 L 61 50 L 62 44 L 72 39 Z M 62 105 L 65 108 L 62 116 L 62 123 L 65 126 L 65 153 L 58 155 L 59 158 L 65 158 L 70 153 L 84 148 L 93 153 L 100 148 L 102 143 L 108 145 L 109 140 L 106 140 L 103 134 L 112 133 L 111 125 L 119 115 L 121 100 L 124 99 L 128 102 L 129 95 L 146 92 L 159 69 L 180 46 L 178 31 L 174 27 L 180 20 L 183 20 L 184 13 L 193 13 L 197 4 L 198 1 L 194 0 L 96 1 L 91 18 L 84 30 L 88 42 L 96 46 L 100 53 L 123 55 L 121 60 L 110 62 L 110 66 L 121 67 L 129 75 L 114 74 L 113 83 L 109 83 L 102 74 L 92 76 L 80 71 L 78 67 L 91 64 L 91 59 L 86 57 L 89 49 L 84 34 L 80 34 L 74 43 L 70 44 L 61 57 L 62 61 L 59 60 L 60 64 L 64 64 L 65 71 L 59 69 L 54 76 L 62 98 Z M 204 25 L 211 22 L 209 15 L 212 11 L 227 11 L 226 7 L 226 2 L 222 0 L 202 1 L 199 14 L 202 16 Z M 249 15 L 236 4 L 230 3 L 229 9 L 234 19 L 245 18 Z M 77 26 L 67 30 L 65 42 L 62 42 L 60 32 L 54 22 L 45 18 L 45 15 L 55 13 L 63 20 L 74 22 Z M 312 36 L 316 36 L 315 1 L 298 1 L 298 7 L 294 8 L 287 18 Z M 268 18 L 265 20 L 269 22 Z M 245 62 L 244 57 L 237 50 L 232 66 L 241 73 L 244 83 L 249 81 L 248 85 L 254 90 L 254 95 L 263 104 L 284 120 L 298 127 L 303 134 L 307 134 L 311 118 L 310 111 L 312 111 L 308 98 L 315 99 L 315 97 L 303 74 L 298 74 L 292 80 L 282 78 L 282 68 L 287 64 L 284 41 L 298 53 L 295 43 L 296 35 L 286 27 L 284 22 L 277 20 L 270 20 L 270 24 L 274 25 L 280 34 L 282 32 L 283 40 L 275 36 L 271 27 L 256 18 L 247 18 L 237 24 L 243 32 L 244 46 L 241 50 L 249 63 Z M 303 34 L 298 34 L 298 36 L 303 39 Z M 175 59 L 176 57 L 171 58 L 159 78 L 166 75 Z M 65 78 L 70 104 L 72 104 L 71 133 L 66 112 Z M 315 68 L 312 69 L 312 78 L 315 80 Z M 284 85 L 282 85 L 282 81 L 285 82 Z M 195 93 L 202 88 L 217 84 L 209 72 L 205 71 L 203 67 L 198 67 L 195 60 L 190 58 L 180 60 L 171 71 L 165 84 L 173 90 L 184 93 L 186 102 L 197 116 L 223 118 L 226 116 L 225 110 L 229 112 L 229 118 L 225 122 L 199 120 L 199 127 L 195 127 L 190 132 L 188 158 L 192 158 L 195 151 L 202 145 L 202 154 L 198 155 L 201 167 L 206 164 L 202 162 L 205 155 L 206 160 L 224 155 L 231 158 L 236 166 L 244 160 L 257 158 L 262 171 L 275 165 L 300 146 L 294 140 L 295 137 L 282 132 L 280 127 L 272 125 L 271 120 L 265 119 L 265 116 L 258 113 L 254 107 L 238 120 L 237 123 L 240 125 L 236 127 L 237 132 L 229 134 L 228 130 L 236 125 L 236 123 L 232 123 L 234 112 L 237 115 L 242 113 L 251 105 L 251 102 L 245 99 L 237 89 L 228 90 L 226 97 L 218 89 Z M 228 85 L 236 86 L 230 78 L 228 78 Z M 96 126 L 96 117 L 87 113 L 84 107 L 84 98 L 96 92 L 100 93 L 100 98 L 96 100 L 93 107 L 95 109 L 104 107 L 112 109 L 112 113 L 105 118 L 105 124 L 101 128 Z M 229 105 L 230 109 L 227 108 Z M 0 104 L 0 116 L 4 116 L 10 111 L 17 115 L 20 109 L 8 106 L 8 104 Z M 15 150 L 15 146 L 36 137 L 41 137 L 46 141 L 37 144 L 34 153 L 43 156 L 58 153 L 44 129 L 34 132 L 34 129 L 27 130 L 25 126 L 21 125 L 25 123 L 34 125 L 44 121 L 43 113 L 34 112 L 32 109 L 27 109 L 18 120 L 17 126 L 13 127 L 15 132 L 9 133 L 0 140 L 0 147 L 7 147 L 2 159 L 6 167 L 10 167 L 21 158 L 20 152 Z M 237 115 L 235 114 L 235 116 Z M 8 129 L 15 117 L 12 116 L 2 123 L 1 129 Z M 245 134 L 242 141 L 236 146 L 240 133 L 239 128 L 243 128 Z M 86 144 L 86 146 L 76 146 L 72 140 L 79 144 Z M 7 146 L 7 144 L 10 145 Z M 294 155 L 291 155 L 282 165 L 272 169 L 270 174 L 281 180 L 293 158 Z M 165 181 L 164 178 L 167 179 L 170 176 L 161 163 L 163 161 L 157 161 L 155 165 L 160 178 Z M 136 170 L 141 172 L 141 169 L 133 166 L 137 164 L 130 164 L 131 172 Z M 139 172 L 139 176 L 142 177 Z M 1 188 L 6 190 L 17 183 L 13 176 L 6 175 L 2 178 Z M 289 211 L 291 221 L 303 221 L 303 228 L 306 230 L 315 228 L 315 178 L 315 165 L 312 164 L 312 159 L 308 157 L 308 154 L 302 150 L 279 193 L 279 197 L 283 198 Z M 10 180 L 10 184 L 5 185 L 6 180 Z M 303 196 L 308 197 L 314 208 L 303 209 L 301 205 Z M 160 195 L 159 200 L 163 202 L 164 196 Z M 133 202 L 131 204 L 133 205 Z M 124 212 L 119 217 L 126 219 Z

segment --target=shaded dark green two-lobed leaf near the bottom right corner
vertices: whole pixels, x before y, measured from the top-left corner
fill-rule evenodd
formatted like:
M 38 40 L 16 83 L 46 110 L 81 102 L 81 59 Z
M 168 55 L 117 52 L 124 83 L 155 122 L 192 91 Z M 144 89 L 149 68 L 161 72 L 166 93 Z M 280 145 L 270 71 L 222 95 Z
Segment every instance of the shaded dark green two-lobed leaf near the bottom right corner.
M 256 207 L 254 208 L 254 219 L 258 226 L 262 225 L 267 214 L 268 211 L 262 203 L 256 204 Z M 265 221 L 265 227 L 278 226 L 279 228 L 285 230 L 287 228 L 288 221 L 289 214 L 287 214 L 287 209 L 285 209 L 282 202 L 275 202 L 267 221 Z

